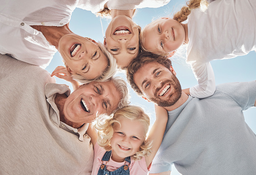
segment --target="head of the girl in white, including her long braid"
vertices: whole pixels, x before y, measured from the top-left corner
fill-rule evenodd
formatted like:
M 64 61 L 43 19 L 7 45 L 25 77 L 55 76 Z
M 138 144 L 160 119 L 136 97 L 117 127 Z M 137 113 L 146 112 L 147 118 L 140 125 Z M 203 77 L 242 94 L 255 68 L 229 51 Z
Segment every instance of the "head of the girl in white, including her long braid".
M 205 6 L 205 0 L 190 0 L 173 18 L 160 18 L 146 25 L 139 36 L 141 49 L 159 55 L 172 55 L 188 42 L 187 24 L 182 22 L 187 20 L 191 9 Z

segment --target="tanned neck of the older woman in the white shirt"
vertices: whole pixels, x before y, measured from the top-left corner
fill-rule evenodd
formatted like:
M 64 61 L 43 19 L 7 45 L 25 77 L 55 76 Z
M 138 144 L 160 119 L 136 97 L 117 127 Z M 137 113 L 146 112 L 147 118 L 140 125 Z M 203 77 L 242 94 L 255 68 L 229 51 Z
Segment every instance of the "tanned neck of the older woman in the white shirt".
M 44 26 L 44 25 L 31 25 L 37 31 L 40 31 L 50 45 L 59 48 L 59 40 L 66 34 L 73 34 L 68 27 L 68 24 L 63 26 Z

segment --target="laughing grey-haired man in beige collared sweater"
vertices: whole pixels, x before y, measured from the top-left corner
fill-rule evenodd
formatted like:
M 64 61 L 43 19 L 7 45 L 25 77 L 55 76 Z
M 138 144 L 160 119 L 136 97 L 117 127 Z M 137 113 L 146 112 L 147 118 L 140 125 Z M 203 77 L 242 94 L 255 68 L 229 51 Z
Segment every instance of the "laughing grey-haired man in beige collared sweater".
M 70 94 L 38 66 L 2 54 L 0 65 L 0 174 L 91 174 L 88 125 L 97 112 L 129 103 L 124 80 L 93 81 Z

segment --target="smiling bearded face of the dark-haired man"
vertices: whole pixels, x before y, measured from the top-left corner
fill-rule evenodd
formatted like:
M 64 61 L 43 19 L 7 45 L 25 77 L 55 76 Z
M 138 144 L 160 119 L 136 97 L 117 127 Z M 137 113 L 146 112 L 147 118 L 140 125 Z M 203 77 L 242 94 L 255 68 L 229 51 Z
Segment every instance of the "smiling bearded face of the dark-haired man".
M 172 67 L 148 63 L 134 74 L 134 82 L 143 95 L 159 106 L 172 106 L 182 95 L 181 84 Z

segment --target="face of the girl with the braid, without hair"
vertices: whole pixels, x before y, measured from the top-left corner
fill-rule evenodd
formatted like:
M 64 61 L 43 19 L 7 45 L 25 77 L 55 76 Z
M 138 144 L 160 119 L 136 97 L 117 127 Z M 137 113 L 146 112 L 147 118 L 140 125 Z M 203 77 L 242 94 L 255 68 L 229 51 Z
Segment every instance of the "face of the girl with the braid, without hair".
M 183 25 L 171 18 L 153 21 L 143 32 L 143 47 L 156 54 L 177 50 L 185 41 Z

